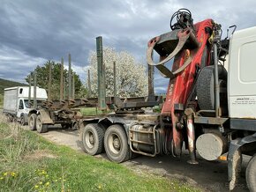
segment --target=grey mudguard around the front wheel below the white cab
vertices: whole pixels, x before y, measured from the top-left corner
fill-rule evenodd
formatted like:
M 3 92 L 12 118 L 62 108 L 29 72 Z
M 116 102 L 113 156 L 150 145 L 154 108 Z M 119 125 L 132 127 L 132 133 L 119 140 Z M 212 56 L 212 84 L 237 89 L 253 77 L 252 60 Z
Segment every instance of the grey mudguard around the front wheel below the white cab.
M 230 142 L 230 149 L 228 154 L 228 174 L 230 181 L 230 190 L 236 187 L 238 176 L 241 172 L 242 165 L 242 152 L 241 146 L 244 144 L 250 144 L 256 141 L 256 133 L 253 135 L 237 138 Z

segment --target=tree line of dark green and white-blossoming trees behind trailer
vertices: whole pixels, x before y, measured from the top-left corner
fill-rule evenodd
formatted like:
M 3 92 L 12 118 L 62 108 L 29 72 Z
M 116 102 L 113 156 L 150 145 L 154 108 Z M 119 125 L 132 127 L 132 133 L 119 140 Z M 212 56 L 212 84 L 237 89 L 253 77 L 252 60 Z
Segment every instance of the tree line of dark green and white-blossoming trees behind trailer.
M 91 97 L 97 97 L 98 89 L 98 72 L 97 72 L 97 55 L 92 51 L 88 57 L 88 68 L 91 74 Z M 106 74 L 106 94 L 113 96 L 114 92 L 114 70 L 113 63 L 116 62 L 117 68 L 117 96 L 120 97 L 139 97 L 147 95 L 147 74 L 146 66 L 138 63 L 135 57 L 126 51 L 117 52 L 114 48 L 103 48 L 103 62 Z M 59 100 L 61 63 L 48 61 L 42 66 L 35 68 L 37 73 L 37 85 L 48 90 L 49 82 L 49 63 L 52 66 L 52 84 L 51 98 Z M 34 77 L 34 71 L 26 76 L 26 82 L 29 83 L 29 75 Z M 79 75 L 72 70 L 72 76 L 75 78 L 75 98 L 87 97 L 88 81 L 83 85 Z M 68 94 L 68 70 L 64 69 L 64 85 L 66 95 Z

